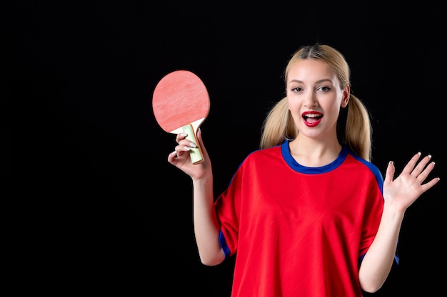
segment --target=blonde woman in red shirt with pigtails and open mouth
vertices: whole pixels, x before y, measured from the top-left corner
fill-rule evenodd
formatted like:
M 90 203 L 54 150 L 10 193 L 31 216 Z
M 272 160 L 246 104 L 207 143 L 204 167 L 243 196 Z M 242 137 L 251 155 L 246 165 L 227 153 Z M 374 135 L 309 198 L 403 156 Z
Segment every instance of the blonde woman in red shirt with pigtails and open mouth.
M 335 48 L 299 48 L 260 150 L 216 199 L 201 131 L 199 165 L 189 157 L 196 144 L 176 136 L 168 161 L 193 182 L 200 259 L 211 266 L 236 255 L 232 297 L 358 297 L 381 288 L 398 263 L 403 215 L 439 178 L 425 182 L 434 162 L 418 153 L 396 179 L 390 162 L 383 179 L 371 163 L 368 111 L 351 94 L 349 75 Z

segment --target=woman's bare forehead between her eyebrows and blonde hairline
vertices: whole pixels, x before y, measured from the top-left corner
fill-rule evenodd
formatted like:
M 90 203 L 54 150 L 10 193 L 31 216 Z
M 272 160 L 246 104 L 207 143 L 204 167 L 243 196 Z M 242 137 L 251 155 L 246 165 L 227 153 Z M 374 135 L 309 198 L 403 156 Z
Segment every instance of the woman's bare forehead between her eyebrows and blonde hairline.
M 336 79 L 336 73 L 327 63 L 316 59 L 296 61 L 289 69 L 287 75 L 287 81 L 300 80 L 311 82 L 322 79 L 334 80 Z

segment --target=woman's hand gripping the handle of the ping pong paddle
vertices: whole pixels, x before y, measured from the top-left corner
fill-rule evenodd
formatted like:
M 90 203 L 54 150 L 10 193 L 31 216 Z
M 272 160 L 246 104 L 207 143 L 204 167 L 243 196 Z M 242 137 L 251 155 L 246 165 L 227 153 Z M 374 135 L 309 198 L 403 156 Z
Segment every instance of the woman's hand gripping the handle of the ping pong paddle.
M 176 142 L 178 145 L 176 145 L 174 152 L 168 155 L 168 162 L 188 174 L 192 179 L 201 179 L 206 174 L 211 174 L 211 160 L 202 141 L 200 129 L 197 131 L 197 140 L 199 140 L 199 145 L 204 155 L 203 162 L 196 165 L 192 163 L 189 150 L 196 147 L 196 144 L 187 140 L 185 133 L 177 134 Z

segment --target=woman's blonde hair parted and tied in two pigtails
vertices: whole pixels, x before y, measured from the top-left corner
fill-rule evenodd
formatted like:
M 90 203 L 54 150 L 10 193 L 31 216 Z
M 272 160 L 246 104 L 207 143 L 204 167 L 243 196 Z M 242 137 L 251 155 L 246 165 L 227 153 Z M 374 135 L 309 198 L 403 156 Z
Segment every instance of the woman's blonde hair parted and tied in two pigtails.
M 284 71 L 285 83 L 287 82 L 287 75 L 291 66 L 297 61 L 305 59 L 320 60 L 331 66 L 340 81 L 340 88 L 351 85 L 351 71 L 344 56 L 335 48 L 318 43 L 313 46 L 302 46 L 293 53 Z M 342 145 L 348 146 L 364 160 L 371 161 L 372 127 L 368 110 L 361 100 L 352 95 L 352 93 L 346 108 L 348 109 L 346 123 L 342 123 L 344 121 L 340 120 L 340 116 L 338 118 L 338 141 Z M 341 125 L 344 125 L 344 130 Z M 281 145 L 284 141 L 294 139 L 298 135 L 298 129 L 288 110 L 287 97 L 282 98 L 273 105 L 263 122 L 261 132 L 261 149 Z

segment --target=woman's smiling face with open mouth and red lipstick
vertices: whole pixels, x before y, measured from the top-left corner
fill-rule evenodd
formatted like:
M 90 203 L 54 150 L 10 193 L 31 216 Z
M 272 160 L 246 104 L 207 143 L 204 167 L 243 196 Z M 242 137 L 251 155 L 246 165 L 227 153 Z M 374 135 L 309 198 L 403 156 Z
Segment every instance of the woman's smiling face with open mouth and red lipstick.
M 336 136 L 340 108 L 349 100 L 349 86 L 340 88 L 336 73 L 323 61 L 307 59 L 289 70 L 288 109 L 300 134 L 321 138 Z

